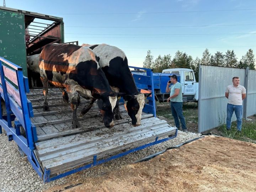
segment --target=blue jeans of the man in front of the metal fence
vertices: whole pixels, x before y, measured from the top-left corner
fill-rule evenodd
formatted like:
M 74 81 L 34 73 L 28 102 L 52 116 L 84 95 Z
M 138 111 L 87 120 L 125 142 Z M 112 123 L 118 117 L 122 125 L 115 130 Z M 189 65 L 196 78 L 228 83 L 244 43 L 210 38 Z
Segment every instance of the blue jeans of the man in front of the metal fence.
M 227 129 L 230 129 L 231 126 L 231 118 L 232 115 L 235 111 L 236 119 L 237 119 L 237 130 L 242 129 L 242 105 L 232 105 L 229 104 L 227 105 L 227 118 L 226 118 L 226 123 L 227 123 Z

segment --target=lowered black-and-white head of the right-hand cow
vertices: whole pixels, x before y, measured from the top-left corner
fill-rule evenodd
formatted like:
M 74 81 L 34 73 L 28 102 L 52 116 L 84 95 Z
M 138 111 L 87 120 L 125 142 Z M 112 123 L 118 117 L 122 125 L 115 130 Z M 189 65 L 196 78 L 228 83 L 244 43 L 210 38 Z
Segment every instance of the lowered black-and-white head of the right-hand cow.
M 132 119 L 133 126 L 139 126 L 142 116 L 142 109 L 145 105 L 145 98 L 150 96 L 149 94 L 138 94 L 138 95 L 125 95 L 124 101 L 128 115 Z

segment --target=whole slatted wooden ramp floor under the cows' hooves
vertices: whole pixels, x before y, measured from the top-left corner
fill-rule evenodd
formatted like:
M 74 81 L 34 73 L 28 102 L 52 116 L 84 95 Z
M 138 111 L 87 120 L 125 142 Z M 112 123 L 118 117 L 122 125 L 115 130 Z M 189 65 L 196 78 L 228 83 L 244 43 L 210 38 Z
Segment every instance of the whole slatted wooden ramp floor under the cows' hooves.
M 123 119 L 116 120 L 114 127 L 104 126 L 97 105 L 94 105 L 85 116 L 79 117 L 80 128 L 72 129 L 72 111 L 70 105 L 63 102 L 59 89 L 49 89 L 49 112 L 42 111 L 42 89 L 30 90 L 27 98 L 33 105 L 34 117 L 31 122 L 37 130 L 34 154 L 42 170 L 49 173 L 49 178 L 71 168 L 93 163 L 95 158 L 108 158 L 117 152 L 155 142 L 167 135 L 176 137 L 177 133 L 177 129 L 166 121 L 144 112 L 141 125 L 132 126 L 122 104 L 120 111 Z M 88 102 L 81 98 L 78 116 Z

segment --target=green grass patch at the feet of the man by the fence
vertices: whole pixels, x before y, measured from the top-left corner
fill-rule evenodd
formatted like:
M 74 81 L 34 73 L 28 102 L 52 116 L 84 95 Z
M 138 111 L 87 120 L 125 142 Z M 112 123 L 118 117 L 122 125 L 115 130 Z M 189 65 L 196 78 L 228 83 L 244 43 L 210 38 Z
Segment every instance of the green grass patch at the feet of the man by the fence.
M 218 130 L 220 130 L 223 133 L 223 136 L 225 137 L 256 143 L 256 123 L 255 122 L 243 121 L 242 130 L 240 134 L 236 130 L 236 122 L 231 123 L 230 131 L 226 130 L 225 124 L 220 126 Z

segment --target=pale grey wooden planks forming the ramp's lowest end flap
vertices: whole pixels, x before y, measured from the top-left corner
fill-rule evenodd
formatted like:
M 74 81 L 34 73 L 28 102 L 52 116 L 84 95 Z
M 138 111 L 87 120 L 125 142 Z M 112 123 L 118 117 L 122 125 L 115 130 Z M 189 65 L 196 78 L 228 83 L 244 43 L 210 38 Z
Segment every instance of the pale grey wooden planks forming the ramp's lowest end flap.
M 36 154 L 41 164 L 51 173 L 69 169 L 92 160 L 94 155 L 103 157 L 116 151 L 146 144 L 156 137 L 175 134 L 176 128 L 166 121 L 151 117 L 142 120 L 142 125 L 114 126 L 114 129 L 95 130 L 87 134 L 72 135 L 36 144 Z

